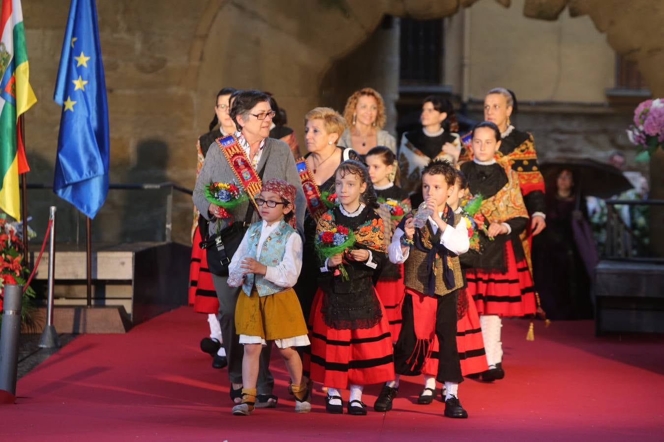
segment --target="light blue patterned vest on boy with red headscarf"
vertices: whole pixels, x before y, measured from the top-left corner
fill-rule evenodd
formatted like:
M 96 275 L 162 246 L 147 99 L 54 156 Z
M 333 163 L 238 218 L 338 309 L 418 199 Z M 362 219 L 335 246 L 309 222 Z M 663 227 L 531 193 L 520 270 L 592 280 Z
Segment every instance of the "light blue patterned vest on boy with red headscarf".
M 256 256 L 256 249 L 258 248 L 258 240 L 260 239 L 260 233 L 262 231 L 263 221 L 258 221 L 250 225 L 247 230 L 247 254 L 246 256 Z M 279 227 L 274 229 L 270 236 L 268 236 L 260 249 L 260 258 L 258 262 L 264 264 L 268 267 L 276 267 L 284 259 L 284 252 L 286 252 L 286 241 L 292 233 L 295 233 L 295 229 L 290 227 L 288 223 L 284 223 L 284 220 L 279 222 Z M 256 284 L 256 290 L 258 291 L 258 296 L 268 296 L 275 294 L 276 292 L 281 292 L 286 290 L 283 287 L 277 286 L 276 284 L 265 279 L 263 275 L 256 275 L 253 273 L 248 273 L 244 276 L 244 284 L 242 284 L 242 290 L 247 296 L 251 296 L 252 286 Z

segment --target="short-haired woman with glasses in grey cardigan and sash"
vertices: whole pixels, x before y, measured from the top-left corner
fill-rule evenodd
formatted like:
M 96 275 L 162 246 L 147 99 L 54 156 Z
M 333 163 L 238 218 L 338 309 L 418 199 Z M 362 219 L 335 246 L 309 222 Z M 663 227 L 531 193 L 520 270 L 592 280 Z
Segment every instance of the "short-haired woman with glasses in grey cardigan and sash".
M 293 184 L 297 188 L 295 197 L 295 218 L 298 222 L 298 230 L 302 231 L 302 221 L 306 202 L 301 190 L 299 174 L 295 168 L 295 160 L 288 144 L 281 140 L 268 138 L 270 125 L 275 115 L 275 109 L 270 107 L 270 97 L 260 91 L 240 91 L 232 96 L 232 107 L 230 117 L 236 125 L 236 131 L 232 136 L 217 138 L 208 148 L 207 156 L 203 162 L 203 168 L 196 180 L 193 201 L 201 212 L 201 215 L 209 221 L 208 234 L 213 235 L 219 229 L 228 226 L 232 221 L 245 221 L 250 215 L 250 223 L 260 219 L 258 212 L 252 208 L 252 201 L 241 203 L 232 209 L 226 209 L 230 217 L 220 211 L 220 207 L 208 201 L 205 196 L 205 188 L 213 182 L 235 183 L 242 188 L 240 180 L 253 177 L 255 188 L 256 178 L 265 182 L 272 178 L 280 178 Z M 232 156 L 232 162 L 228 159 L 228 145 L 239 146 L 241 154 Z M 222 148 L 222 146 L 226 146 Z M 222 149 L 226 149 L 225 152 Z M 228 158 L 228 159 L 227 159 Z M 241 170 L 242 167 L 250 166 L 249 170 Z M 260 186 L 258 187 L 260 189 Z M 254 195 L 250 193 L 250 200 Z M 229 256 L 229 258 L 231 258 Z M 219 300 L 219 322 L 221 325 L 224 348 L 228 359 L 228 380 L 230 380 L 230 397 L 238 404 L 242 398 L 242 355 L 243 349 L 235 333 L 235 305 L 240 289 L 229 287 L 226 283 L 227 276 L 212 274 L 212 282 Z M 270 374 L 270 345 L 264 347 L 260 357 L 260 372 L 258 375 L 256 407 L 274 407 L 277 398 L 272 394 L 274 378 Z

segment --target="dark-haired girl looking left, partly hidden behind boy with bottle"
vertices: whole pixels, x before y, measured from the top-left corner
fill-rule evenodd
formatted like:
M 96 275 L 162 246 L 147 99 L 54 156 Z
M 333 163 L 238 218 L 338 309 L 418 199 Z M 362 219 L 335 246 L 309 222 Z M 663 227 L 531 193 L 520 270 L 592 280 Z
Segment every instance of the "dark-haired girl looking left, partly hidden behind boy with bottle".
M 396 156 L 386 146 L 376 146 L 365 157 L 369 177 L 373 182 L 378 203 L 384 212 L 385 243 L 392 241 L 392 233 L 402 217 L 410 212 L 408 192 L 398 186 L 398 168 Z M 402 264 L 386 261 L 378 282 L 376 293 L 385 308 L 385 315 L 390 324 L 392 342 L 396 342 L 401 330 L 401 305 L 404 300 L 404 269 Z

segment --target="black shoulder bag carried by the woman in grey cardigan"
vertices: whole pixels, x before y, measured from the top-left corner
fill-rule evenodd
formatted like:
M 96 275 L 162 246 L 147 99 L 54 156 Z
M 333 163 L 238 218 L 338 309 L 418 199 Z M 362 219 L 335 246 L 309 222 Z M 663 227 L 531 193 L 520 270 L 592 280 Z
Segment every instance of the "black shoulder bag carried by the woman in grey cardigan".
M 260 172 L 258 172 L 258 177 L 261 180 L 263 180 L 263 172 L 265 171 L 266 164 L 267 161 L 263 164 Z M 219 233 L 214 233 L 214 235 L 208 233 L 209 221 L 203 215 L 199 215 L 199 229 L 201 230 L 201 238 L 203 238 L 199 247 L 207 250 L 206 256 L 210 273 L 217 276 L 228 276 L 228 264 L 230 264 L 230 260 L 233 258 L 236 250 L 238 250 L 238 247 L 240 247 L 244 233 L 246 233 L 251 225 L 253 215 L 254 203 L 249 201 L 244 221 L 234 221 L 234 223 L 224 227 L 224 229 L 221 229 Z

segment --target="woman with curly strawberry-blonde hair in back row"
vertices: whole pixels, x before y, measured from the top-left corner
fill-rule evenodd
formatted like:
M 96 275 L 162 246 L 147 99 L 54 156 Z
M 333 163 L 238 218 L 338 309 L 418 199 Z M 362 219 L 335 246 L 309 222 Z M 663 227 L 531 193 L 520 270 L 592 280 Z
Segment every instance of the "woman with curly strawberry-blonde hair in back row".
M 396 154 L 396 138 L 385 126 L 385 104 L 378 91 L 364 87 L 353 92 L 343 110 L 347 129 L 341 134 L 339 146 L 350 147 L 362 158 L 375 146 L 388 146 Z

